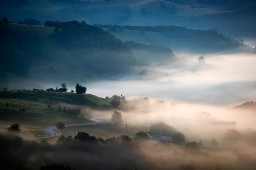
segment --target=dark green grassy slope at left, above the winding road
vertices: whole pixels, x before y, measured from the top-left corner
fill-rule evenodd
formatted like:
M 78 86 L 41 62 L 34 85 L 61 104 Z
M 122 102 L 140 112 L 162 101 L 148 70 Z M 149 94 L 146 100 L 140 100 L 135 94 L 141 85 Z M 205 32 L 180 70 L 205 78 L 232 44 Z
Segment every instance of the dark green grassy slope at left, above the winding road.
M 6 103 L 9 108 L 6 108 Z M 49 111 L 47 104 L 58 106 L 58 102 L 81 104 L 93 108 L 111 108 L 109 101 L 91 94 L 83 97 L 71 93 L 56 93 L 46 91 L 0 91 L 0 130 L 5 130 L 10 124 L 18 122 L 22 131 L 41 136 L 41 129 L 55 125 L 57 122 L 72 124 L 77 122 L 76 116 L 68 113 Z M 81 106 L 76 106 L 79 108 Z M 20 109 L 25 109 L 25 112 Z M 82 112 L 83 113 L 83 112 Z M 83 113 L 88 116 L 87 113 Z M 87 121 L 88 122 L 88 121 Z

